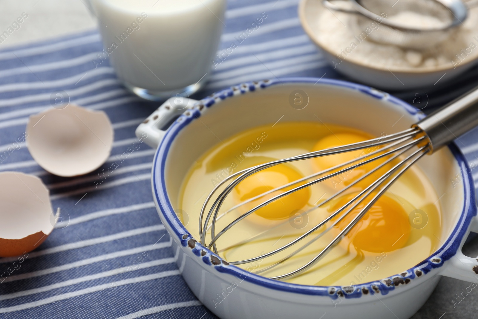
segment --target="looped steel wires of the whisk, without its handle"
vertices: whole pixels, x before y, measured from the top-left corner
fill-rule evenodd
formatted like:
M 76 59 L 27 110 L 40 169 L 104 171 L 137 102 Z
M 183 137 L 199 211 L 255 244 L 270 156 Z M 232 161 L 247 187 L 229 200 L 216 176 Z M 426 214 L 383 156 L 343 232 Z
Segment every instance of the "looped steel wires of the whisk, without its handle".
M 364 202 L 367 198 L 369 198 L 371 195 L 376 193 L 376 195 L 374 195 L 374 197 L 367 202 L 365 207 L 360 210 L 360 212 L 353 218 L 353 220 L 350 223 L 348 223 L 347 227 L 343 231 L 341 231 L 331 242 L 329 242 L 326 245 L 326 247 L 320 253 L 318 253 L 314 258 L 312 258 L 309 262 L 295 269 L 292 272 L 288 272 L 282 275 L 272 276 L 270 278 L 283 279 L 286 277 L 300 274 L 305 269 L 309 268 L 311 265 L 318 262 L 324 255 L 326 255 L 326 253 L 330 251 L 341 240 L 341 238 L 343 238 L 343 236 L 345 236 L 348 233 L 348 231 L 350 231 L 353 228 L 353 226 L 370 209 L 370 207 L 373 206 L 373 204 L 393 184 L 393 182 L 397 180 L 411 165 L 413 165 L 417 160 L 419 160 L 424 154 L 426 154 L 430 150 L 429 145 L 425 141 L 426 141 L 426 136 L 422 134 L 420 129 L 410 128 L 408 130 L 405 130 L 399 133 L 382 136 L 382 137 L 371 139 L 364 142 L 353 143 L 353 144 L 349 144 L 345 146 L 337 146 L 337 147 L 329 148 L 326 150 L 310 152 L 307 154 L 301 154 L 301 155 L 293 156 L 290 158 L 285 158 L 285 159 L 272 161 L 272 162 L 261 164 L 261 165 L 256 165 L 256 166 L 241 170 L 237 173 L 231 174 L 230 176 L 222 180 L 216 187 L 214 187 L 213 191 L 207 196 L 201 208 L 201 214 L 199 217 L 200 241 L 201 243 L 206 245 L 206 247 L 212 249 L 215 253 L 219 253 L 216 244 L 218 239 L 221 238 L 222 235 L 224 235 L 232 227 L 237 225 L 240 221 L 247 218 L 250 214 L 254 213 L 258 209 L 261 209 L 262 207 L 265 207 L 266 205 L 272 203 L 273 201 L 280 200 L 280 198 L 290 195 L 293 192 L 299 191 L 306 187 L 311 187 L 317 183 L 323 182 L 334 176 L 338 176 L 343 173 L 349 172 L 359 166 L 367 165 L 378 159 L 384 159 L 382 163 L 379 163 L 377 166 L 370 169 L 366 174 L 359 176 L 356 180 L 352 181 L 349 185 L 347 185 L 343 189 L 337 191 L 334 195 L 326 198 L 324 201 L 318 203 L 317 205 L 315 205 L 314 207 L 308 209 L 306 212 L 303 213 L 303 214 L 307 214 L 311 212 L 312 210 L 325 205 L 326 203 L 330 202 L 334 198 L 337 198 L 339 195 L 343 194 L 348 189 L 350 189 L 350 187 L 355 186 L 357 183 L 359 183 L 360 181 L 363 181 L 365 178 L 369 178 L 370 176 L 375 175 L 376 172 L 378 172 L 380 169 L 383 169 L 383 167 L 386 167 L 386 165 L 392 165 L 392 163 L 399 160 L 399 162 L 393 165 L 391 169 L 389 169 L 387 172 L 385 172 L 380 177 L 378 177 L 369 186 L 365 187 L 362 191 L 359 192 L 359 194 L 357 194 L 354 198 L 350 199 L 340 209 L 337 209 L 336 211 L 331 213 L 328 217 L 326 217 L 324 220 L 322 220 L 321 222 L 316 224 L 314 227 L 312 227 L 310 230 L 305 231 L 303 234 L 296 237 L 295 239 L 288 242 L 287 244 L 284 244 L 281 247 L 275 250 L 272 250 L 270 252 L 261 253 L 260 255 L 252 257 L 252 258 L 238 260 L 238 261 L 228 261 L 230 264 L 239 265 L 239 264 L 248 264 L 248 263 L 262 260 L 264 258 L 271 257 L 272 255 L 275 255 L 277 253 L 280 253 L 282 251 L 285 251 L 293 247 L 294 245 L 303 241 L 305 238 L 309 237 L 311 234 L 315 233 L 317 230 L 319 230 L 321 227 L 329 223 L 331 220 L 338 217 L 337 220 L 333 221 L 331 226 L 329 226 L 325 231 L 322 231 L 319 234 L 317 234 L 315 238 L 313 238 L 311 241 L 305 243 L 301 247 L 297 247 L 297 249 L 293 251 L 293 253 L 290 253 L 285 258 L 282 258 L 278 263 L 272 264 L 272 266 L 266 267 L 265 269 L 261 269 L 258 273 L 266 272 L 274 268 L 277 264 L 282 264 L 283 262 L 291 258 L 293 255 L 302 251 L 305 247 L 315 242 L 317 239 L 323 236 L 327 231 L 329 231 L 333 226 L 337 225 L 338 222 L 342 221 L 346 216 L 348 216 L 348 214 L 354 209 L 356 209 L 362 202 Z M 417 147 L 417 146 L 420 146 L 420 147 Z M 293 182 L 284 184 L 280 187 L 276 187 L 260 195 L 249 198 L 248 200 L 243 201 L 220 214 L 220 209 L 222 205 L 224 204 L 225 199 L 228 197 L 228 195 L 230 195 L 234 187 L 237 187 L 237 185 L 241 181 L 243 181 L 245 178 L 263 169 L 272 167 L 274 165 L 290 163 L 293 161 L 301 161 L 301 160 L 307 160 L 307 159 L 316 158 L 316 157 L 341 154 L 341 153 L 346 153 L 351 151 L 358 151 L 358 150 L 363 150 L 370 147 L 377 147 L 377 149 L 369 153 L 362 154 L 359 157 L 349 160 L 347 162 L 337 164 L 333 167 L 330 167 L 320 172 L 311 174 L 309 176 L 305 176 L 303 178 L 294 180 Z M 413 148 L 415 148 L 414 151 L 412 151 Z M 411 153 L 411 154 L 407 155 L 407 153 Z M 275 193 L 277 191 L 281 191 L 282 189 L 287 187 L 293 187 L 293 188 L 282 191 L 280 194 L 277 194 L 275 196 L 272 196 L 272 198 L 264 200 L 263 202 L 261 202 L 261 204 L 255 206 L 252 209 L 249 209 L 247 212 L 241 214 L 238 218 L 236 218 L 232 222 L 229 222 L 227 226 L 223 227 L 220 231 L 216 233 L 217 220 L 224 218 L 230 212 L 236 209 L 239 209 L 239 207 L 243 205 L 246 205 L 250 202 L 263 198 L 264 196 Z M 222 190 L 219 192 L 220 189 Z M 219 194 L 216 196 L 215 194 L 218 192 Z M 214 201 L 212 201 L 212 199 L 214 199 Z M 208 205 L 211 201 L 212 201 L 212 204 L 207 210 Z M 287 220 L 283 221 L 279 225 L 276 225 L 270 229 L 262 231 L 251 238 L 245 238 L 242 241 L 235 243 L 234 245 L 247 244 L 254 238 L 257 238 L 263 235 L 264 233 L 273 230 L 274 228 L 280 227 L 285 222 L 287 222 Z M 208 231 L 210 231 L 210 240 L 207 241 L 206 235 Z M 222 251 L 228 248 L 224 248 L 222 249 Z

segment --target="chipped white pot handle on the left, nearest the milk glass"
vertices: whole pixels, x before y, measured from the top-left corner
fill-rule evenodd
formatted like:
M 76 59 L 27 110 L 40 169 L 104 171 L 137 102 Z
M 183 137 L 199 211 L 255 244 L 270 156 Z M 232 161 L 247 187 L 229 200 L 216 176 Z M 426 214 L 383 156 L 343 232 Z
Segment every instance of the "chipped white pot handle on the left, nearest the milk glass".
M 136 137 L 142 138 L 152 148 L 158 147 L 166 134 L 163 128 L 174 118 L 181 115 L 186 108 L 191 108 L 197 100 L 174 97 L 166 100 L 157 110 L 152 112 L 135 131 Z

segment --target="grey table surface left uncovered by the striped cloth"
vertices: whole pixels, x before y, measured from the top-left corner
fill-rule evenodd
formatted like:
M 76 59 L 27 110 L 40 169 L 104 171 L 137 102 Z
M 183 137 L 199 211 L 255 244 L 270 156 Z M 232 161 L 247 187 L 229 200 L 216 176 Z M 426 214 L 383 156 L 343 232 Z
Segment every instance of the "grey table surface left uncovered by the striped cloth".
M 21 29 L 14 36 L 0 44 L 0 50 L 96 28 L 96 21 L 87 8 L 86 1 L 0 0 L 1 30 L 8 27 L 22 12 L 29 15 L 28 22 L 22 23 Z M 478 255 L 478 236 L 467 242 L 463 253 L 471 257 Z M 412 319 L 477 319 L 478 286 L 472 288 L 471 292 L 466 292 L 473 286 L 469 282 L 443 277 L 431 297 Z

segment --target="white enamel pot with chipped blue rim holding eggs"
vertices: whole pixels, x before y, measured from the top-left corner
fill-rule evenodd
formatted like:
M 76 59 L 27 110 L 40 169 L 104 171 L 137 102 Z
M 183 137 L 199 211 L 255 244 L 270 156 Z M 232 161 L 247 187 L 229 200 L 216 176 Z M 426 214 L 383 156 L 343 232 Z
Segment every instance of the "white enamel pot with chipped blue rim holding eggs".
M 138 127 L 136 133 L 146 143 L 159 144 L 152 168 L 153 197 L 172 237 L 179 270 L 194 294 L 224 319 L 318 319 L 324 313 L 327 319 L 406 319 L 422 307 L 442 275 L 478 282 L 477 260 L 461 253 L 469 231 L 478 231 L 475 193 L 467 163 L 453 144 L 417 163 L 437 194 L 444 194 L 440 199 L 442 246 L 401 274 L 354 287 L 290 284 L 230 265 L 192 238 L 174 213 L 180 186 L 189 167 L 219 139 L 272 125 L 281 118 L 318 118 L 379 136 L 409 128 L 424 116 L 372 88 L 337 80 L 317 81 L 281 78 L 245 83 L 200 101 L 170 99 Z M 296 93 L 303 99 L 301 108 L 306 105 L 301 110 L 293 104 Z M 167 131 L 160 130 L 181 113 Z

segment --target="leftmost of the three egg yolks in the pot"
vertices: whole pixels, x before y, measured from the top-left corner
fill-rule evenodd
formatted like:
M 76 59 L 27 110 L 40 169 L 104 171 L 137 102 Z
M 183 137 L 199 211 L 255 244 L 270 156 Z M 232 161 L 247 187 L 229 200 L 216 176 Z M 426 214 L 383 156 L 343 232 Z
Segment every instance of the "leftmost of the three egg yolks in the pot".
M 233 196 L 237 203 L 243 202 L 302 177 L 304 177 L 302 174 L 288 165 L 275 165 L 245 178 L 234 188 Z M 250 203 L 241 206 L 240 211 L 245 213 L 247 210 L 258 206 L 264 201 L 299 185 L 300 184 L 294 184 L 276 190 L 261 198 L 257 198 Z M 255 214 L 269 220 L 286 219 L 297 209 L 302 209 L 307 204 L 309 198 L 310 190 L 308 187 L 305 187 L 299 191 L 272 201 L 268 205 L 256 210 Z

